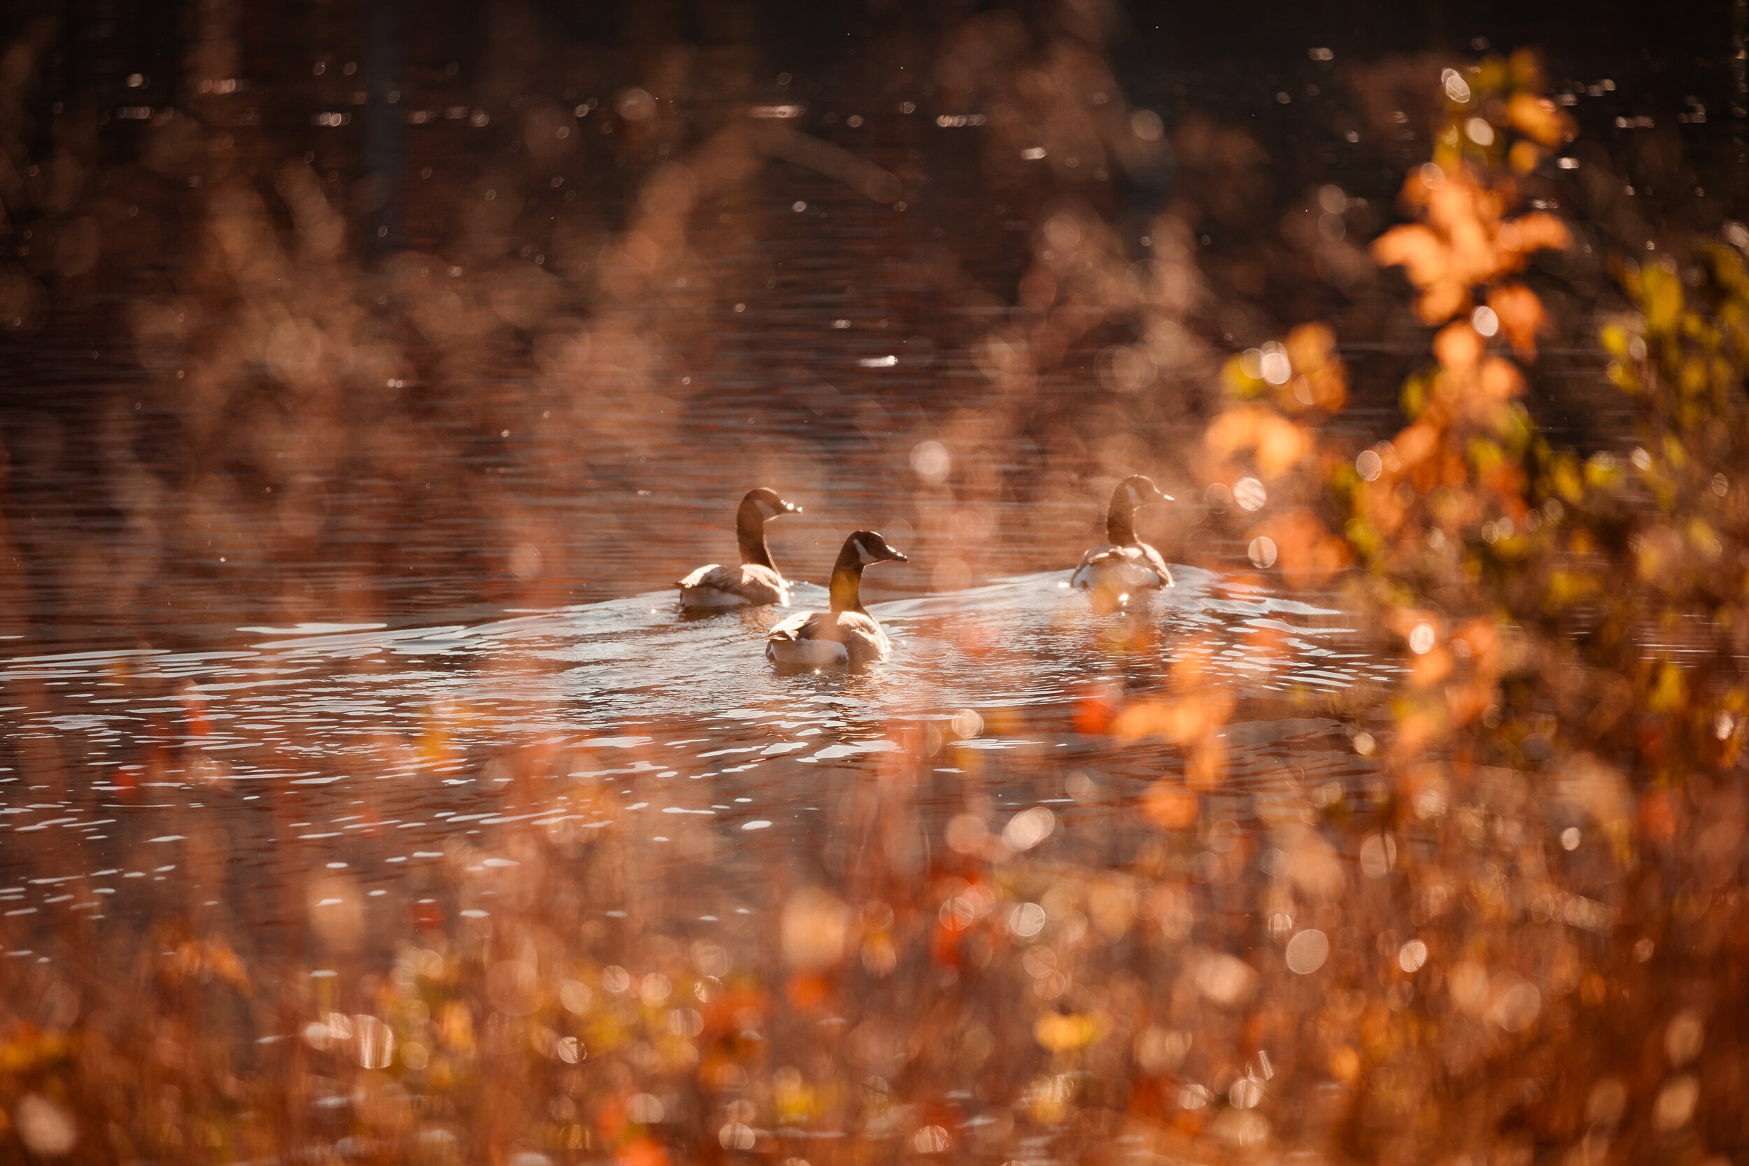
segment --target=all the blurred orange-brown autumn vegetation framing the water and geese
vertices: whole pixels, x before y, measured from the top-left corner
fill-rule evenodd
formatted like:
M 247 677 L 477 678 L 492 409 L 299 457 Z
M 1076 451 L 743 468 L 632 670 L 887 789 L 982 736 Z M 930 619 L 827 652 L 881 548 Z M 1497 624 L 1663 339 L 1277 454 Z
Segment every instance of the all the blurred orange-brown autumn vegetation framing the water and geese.
M 691 937 L 680 920 L 698 893 L 691 883 L 712 879 L 712 855 L 745 844 L 708 825 L 677 822 L 673 836 L 694 846 L 693 865 L 680 867 L 665 867 L 617 825 L 528 816 L 491 850 L 456 836 L 432 855 L 429 895 L 409 893 L 395 928 L 374 933 L 346 864 L 282 867 L 283 914 L 271 928 L 199 923 L 196 879 L 208 888 L 199 893 L 217 895 L 227 869 L 257 855 L 231 853 L 222 829 L 198 830 L 199 816 L 184 809 L 192 825 L 164 846 L 184 867 L 173 878 L 191 881 L 152 914 L 101 927 L 0 918 L 7 1154 L 434 1166 L 1740 1161 L 1749 1147 L 1740 767 L 1749 231 L 1726 224 L 1716 238 L 1606 245 L 1560 206 L 1578 124 L 1534 54 L 1413 73 L 1431 112 L 1397 213 L 1350 206 L 1324 184 L 1300 215 L 1312 226 L 1284 227 L 1308 231 L 1301 255 L 1319 280 L 1364 285 L 1368 302 L 1394 301 L 1418 329 L 1403 332 L 1424 348 L 1406 360 L 1401 416 L 1383 427 L 1389 437 L 1361 441 L 1371 421 L 1347 411 L 1354 357 L 1338 323 L 1315 318 L 1240 348 L 1219 322 L 1244 313 L 1210 308 L 1205 248 L 1182 208 L 1139 220 L 1147 255 L 1137 259 L 1116 199 L 1074 185 L 1105 184 L 1109 175 L 1091 178 L 1105 168 L 1153 173 L 1168 145 L 1181 166 L 1202 150 L 1216 159 L 1205 173 L 1219 177 L 1221 166 L 1256 164 L 1249 140 L 1198 122 L 1168 142 L 1158 115 L 1125 107 L 1097 37 L 1062 33 L 1028 42 L 1030 54 L 1004 51 L 1004 37 L 1016 35 L 1030 33 L 967 17 L 944 40 L 939 103 L 951 103 L 955 84 L 964 108 L 983 96 L 988 115 L 976 124 L 999 198 L 1020 198 L 1002 191 L 1023 182 L 1023 164 L 1069 175 L 1076 159 L 1083 173 L 1035 199 L 1013 302 L 997 304 L 993 327 L 979 318 L 981 332 L 967 332 L 971 404 L 911 434 L 936 449 L 918 444 L 901 470 L 939 484 L 953 467 L 965 505 L 943 514 L 979 514 L 983 526 L 918 517 L 920 535 L 953 531 L 972 551 L 1000 538 L 988 519 L 1000 488 L 976 481 L 995 456 L 978 449 L 1016 434 L 1041 439 L 1034 448 L 1044 451 L 1028 455 L 1041 475 L 1074 465 L 1077 482 L 1109 482 L 1100 475 L 1125 460 L 1154 470 L 1167 493 L 1189 482 L 1209 538 L 1186 537 L 1168 559 L 1195 561 L 1184 544 L 1219 535 L 1244 556 L 1219 565 L 1226 577 L 1289 598 L 1336 596 L 1331 605 L 1352 614 L 1369 650 L 1401 659 L 1394 685 L 1301 691 L 1266 710 L 1341 722 L 1371 776 L 1329 788 L 1284 766 L 1275 794 L 1256 799 L 1254 820 L 1238 822 L 1231 804 L 1245 790 L 1230 774 L 1228 729 L 1265 706 L 1238 694 L 1221 661 L 1156 652 L 1165 633 L 1119 619 L 1105 643 L 1118 680 L 1060 708 L 1000 713 L 1016 736 L 1055 732 L 1107 760 L 1149 759 L 1146 778 L 1111 780 L 1097 794 L 1109 801 L 1100 818 L 1109 834 L 1076 834 L 1069 809 L 997 809 L 974 776 L 937 767 L 946 743 L 976 738 L 999 713 L 888 725 L 864 710 L 862 727 L 883 748 L 855 760 L 833 802 L 817 878 L 761 872 L 764 899 L 749 892 L 759 920 L 729 920 L 724 927 L 740 930 L 726 930 L 724 942 Z M 236 51 L 217 33 L 203 44 Z M 30 42 L 7 52 L 28 75 Z M 208 80 L 234 72 L 231 61 L 203 68 Z M 902 150 L 859 168 L 843 147 L 768 133 L 778 114 L 689 128 L 673 114 L 677 98 L 665 96 L 682 82 L 663 68 L 689 66 L 658 58 L 649 87 L 610 100 L 617 121 L 586 101 L 521 110 L 514 164 L 554 171 L 539 192 L 554 206 L 574 135 L 605 138 L 612 126 L 670 159 L 640 170 L 621 226 L 556 229 L 551 264 L 533 264 L 546 252 L 530 246 L 504 259 L 516 255 L 509 243 L 537 194 L 488 175 L 495 185 L 446 208 L 467 219 L 456 238 L 472 259 L 404 250 L 367 274 L 348 217 L 381 205 L 359 210 L 355 192 L 343 206 L 317 166 L 273 156 L 266 138 L 247 147 L 254 157 L 236 156 L 250 138 L 233 124 L 243 108 L 233 93 L 196 87 L 187 114 L 154 121 L 147 168 L 201 191 L 203 212 L 184 224 L 184 267 L 157 290 L 124 297 L 121 320 L 138 376 L 196 402 L 177 441 L 201 456 L 166 477 L 154 468 L 159 455 L 128 455 L 122 493 L 135 509 L 114 545 L 79 552 L 70 579 L 101 589 L 110 610 L 143 603 L 161 594 L 154 587 L 180 584 L 129 573 L 128 563 L 145 540 L 157 540 L 152 556 L 171 559 L 201 523 L 220 528 L 227 545 L 247 545 L 252 561 L 313 554 L 332 530 L 331 503 L 311 482 L 348 467 L 381 472 L 371 489 L 387 507 L 411 505 L 406 496 L 423 493 L 415 482 L 429 477 L 451 498 L 479 495 L 483 475 L 442 474 L 446 458 L 467 449 L 423 448 L 409 416 L 563 411 L 572 432 L 630 462 L 649 423 L 640 400 L 673 392 L 652 339 L 672 327 L 668 313 L 738 294 L 712 283 L 722 276 L 703 236 L 736 236 L 708 245 L 719 255 L 756 236 L 750 217 L 729 224 L 752 170 L 799 157 L 810 173 L 861 184 L 862 203 L 883 215 L 902 213 L 899 194 L 916 198 Z M 0 93 L 12 119 L 0 119 L 0 133 L 10 135 L 10 157 L 28 161 L 23 86 Z M 455 121 L 483 115 L 463 114 Z M 1039 157 L 1023 157 L 1032 149 Z M 31 180 L 59 182 L 63 154 L 40 173 L 31 163 Z M 138 168 L 93 171 L 108 192 L 80 201 L 75 191 L 56 212 L 59 276 L 5 267 L 0 299 L 19 320 L 51 315 L 56 278 L 72 287 L 122 262 L 112 246 L 133 245 L 128 227 L 101 217 L 129 213 L 121 187 L 138 178 Z M 721 220 L 707 213 L 719 206 L 731 208 Z M 1350 234 L 1350 217 L 1375 224 L 1373 238 Z M 80 267 L 80 233 L 100 220 L 103 243 Z M 937 267 L 950 262 L 930 255 Z M 593 264 L 588 304 L 553 274 L 584 262 Z M 1604 308 L 1592 313 L 1581 301 Z M 1606 353 L 1593 400 L 1628 418 L 1625 455 L 1565 448 L 1525 404 L 1539 348 L 1555 334 L 1571 341 L 1574 320 L 1592 318 Z M 408 383 L 486 381 L 511 348 L 539 386 L 526 400 L 402 395 L 415 392 Z M 862 364 L 906 367 L 916 351 Z M 930 360 L 934 351 L 932 343 Z M 1086 351 L 1095 353 L 1086 367 L 1065 371 Z M 1053 395 L 1077 374 L 1111 400 L 1083 409 Z M 1181 381 L 1200 395 L 1181 393 Z M 995 399 L 1000 411 L 978 404 Z M 1151 402 L 1142 421 L 1195 434 L 1179 460 L 1160 456 L 1161 468 L 1142 460 L 1130 425 L 1140 425 L 1142 400 Z M 881 425 L 927 416 L 901 414 L 897 402 L 895 393 Z M 1063 421 L 1076 411 L 1105 432 Z M 117 423 L 94 421 L 121 449 L 129 441 Z M 507 439 L 509 421 L 502 432 Z M 1055 453 L 1051 435 L 1062 437 Z M 540 456 L 558 465 L 568 455 Z M 596 470 L 554 470 L 547 488 L 600 491 Z M 28 465 L 14 453 L 9 472 Z M 250 502 L 231 496 L 236 479 L 248 481 Z M 815 495 L 794 496 L 813 510 Z M 187 502 L 184 517 L 170 516 L 177 498 Z M 245 505 L 275 507 L 271 537 Z M 554 519 L 507 489 L 456 505 L 509 530 L 502 547 L 479 552 L 509 563 L 493 568 L 497 598 L 565 600 L 556 572 L 540 568 L 561 559 Z M 19 514 L 7 521 L 0 538 L 12 566 L 0 572 L 19 596 L 14 610 L 24 610 L 61 584 L 21 565 L 38 535 Z M 640 530 L 626 519 L 612 533 Z M 958 575 L 936 570 L 936 589 L 974 580 L 964 563 Z M 199 582 L 213 593 L 231 586 L 217 568 Z M 339 591 L 289 587 L 268 614 L 381 614 L 364 600 L 331 607 Z M 1273 650 L 1286 652 L 1258 638 L 1258 657 Z M 1168 666 L 1139 663 L 1156 656 Z M 514 673 L 519 663 L 498 666 Z M 757 666 L 752 652 L 749 668 Z M 56 699 L 28 682 L 9 698 L 33 710 Z M 180 711 L 164 717 L 198 741 L 212 701 L 192 689 L 171 699 Z M 369 748 L 404 757 L 418 780 L 497 774 L 486 811 L 540 788 L 574 799 L 575 818 L 600 801 L 596 787 L 572 781 L 575 741 L 462 750 L 446 717 L 465 713 L 432 710 L 416 731 L 378 731 Z M 680 738 L 687 725 L 640 732 L 666 741 L 658 734 Z M 45 801 L 86 797 L 59 748 L 14 736 L 7 764 L 30 790 L 54 785 Z M 651 771 L 670 760 L 659 745 L 624 752 Z M 198 755 L 198 745 L 164 746 L 142 766 L 194 773 Z M 164 797 L 210 797 L 243 813 L 222 762 L 199 764 L 198 781 Z M 1084 773 L 1058 773 L 1048 755 L 1004 764 L 1009 785 L 1069 781 L 1070 801 L 1083 797 L 1077 781 L 1098 788 Z M 268 795 L 287 801 L 271 811 L 276 837 L 308 825 L 289 822 L 299 815 L 290 787 Z M 497 813 L 509 822 L 507 809 Z M 9 878 L 59 862 L 47 834 L 10 834 L 0 848 Z M 156 869 L 135 860 L 142 850 L 128 865 Z M 603 902 L 621 904 L 617 914 L 603 918 Z M 21 951 L 28 958 L 12 958 Z

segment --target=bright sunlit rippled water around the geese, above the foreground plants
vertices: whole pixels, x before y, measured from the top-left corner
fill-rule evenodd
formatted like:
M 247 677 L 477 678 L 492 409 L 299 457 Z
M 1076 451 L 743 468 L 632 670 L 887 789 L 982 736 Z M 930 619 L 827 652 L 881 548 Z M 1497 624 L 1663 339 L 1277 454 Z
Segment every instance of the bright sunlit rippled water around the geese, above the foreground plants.
M 824 601 L 801 586 L 798 605 Z M 491 850 L 525 823 L 612 827 L 673 846 L 673 862 L 696 862 L 679 843 L 708 830 L 729 843 L 705 862 L 710 881 L 731 886 L 761 851 L 831 844 L 848 773 L 885 752 L 925 755 L 937 815 L 976 787 L 999 813 L 1063 806 L 1069 832 L 1091 836 L 1182 760 L 1077 732 L 1077 704 L 1160 687 L 1186 656 L 1244 699 L 1226 729 L 1240 813 L 1362 773 L 1319 694 L 1394 671 L 1340 612 L 1196 568 L 1118 615 L 1093 614 L 1062 572 L 871 610 L 892 661 L 803 677 L 761 656 L 778 610 L 691 619 L 672 591 L 465 626 L 252 626 L 205 652 L 9 659 L 0 682 L 28 696 L 5 711 L 31 776 L 0 778 L 7 947 L 37 951 L 66 913 L 126 920 L 198 890 L 206 909 L 292 923 L 259 892 L 325 869 L 394 918 L 446 848 Z M 960 710 L 978 713 L 964 739 Z M 1109 801 L 1077 804 L 1072 773 Z M 229 857 L 219 886 L 189 885 L 196 846 Z M 675 911 L 708 914 L 708 899 Z

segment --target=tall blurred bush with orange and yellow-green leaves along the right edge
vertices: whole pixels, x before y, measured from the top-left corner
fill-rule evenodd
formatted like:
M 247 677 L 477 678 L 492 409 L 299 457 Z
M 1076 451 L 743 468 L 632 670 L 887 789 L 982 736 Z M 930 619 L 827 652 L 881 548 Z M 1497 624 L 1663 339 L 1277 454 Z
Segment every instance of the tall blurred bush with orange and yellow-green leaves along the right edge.
M 1515 175 L 1572 133 L 1537 84 L 1527 54 L 1448 70 L 1434 161 L 1403 189 L 1417 222 L 1373 245 L 1382 264 L 1404 267 L 1420 316 L 1441 325 L 1434 364 L 1404 383 L 1410 423 L 1352 456 L 1319 442 L 1322 402 L 1341 393 L 1312 388 L 1329 364 L 1320 348 L 1301 355 L 1319 336 L 1307 327 L 1277 346 L 1289 360 L 1273 376 L 1252 357 L 1228 364 L 1235 404 L 1207 448 L 1230 456 L 1228 432 L 1244 428 L 1258 435 L 1259 477 L 1294 467 L 1327 486 L 1298 519 L 1307 533 L 1273 538 L 1284 575 L 1324 580 L 1352 561 L 1341 586 L 1354 608 L 1404 650 L 1389 722 L 1355 739 L 1382 755 L 1380 822 L 1403 839 L 1378 836 L 1376 867 L 1397 872 L 1410 918 L 1445 916 L 1445 942 L 1404 946 L 1397 961 L 1429 988 L 1443 981 L 1452 1012 L 1389 1021 L 1371 1038 L 1362 1026 L 1333 1049 L 1331 1072 L 1361 1086 L 1357 1115 L 1417 1112 L 1488 1157 L 1518 1128 L 1527 1149 L 1579 1138 L 1569 1161 L 1698 1161 L 1707 1142 L 1744 1143 L 1739 1117 L 1711 1112 L 1697 1086 L 1691 1026 L 1704 1014 L 1723 1037 L 1714 1072 L 1742 1063 L 1746 1014 L 1723 984 L 1742 967 L 1746 923 L 1749 531 L 1732 472 L 1749 453 L 1749 281 L 1742 253 L 1721 243 L 1681 260 L 1618 260 L 1635 311 L 1600 339 L 1639 444 L 1625 465 L 1555 448 L 1518 400 L 1523 371 L 1501 351 L 1534 360 L 1546 316 L 1516 273 L 1532 252 L 1569 245 L 1555 217 L 1513 217 Z M 1277 448 L 1294 456 L 1266 456 L 1265 435 L 1289 430 Z M 1331 542 L 1347 554 L 1320 549 Z M 1495 1037 L 1466 1047 L 1464 1016 Z M 1662 1068 L 1627 1070 L 1621 1059 L 1660 1030 Z M 1504 1126 L 1499 1108 L 1467 1135 L 1452 1124 L 1490 1112 L 1502 1087 L 1522 1089 Z M 1362 1145 L 1387 1143 L 1350 1149 Z

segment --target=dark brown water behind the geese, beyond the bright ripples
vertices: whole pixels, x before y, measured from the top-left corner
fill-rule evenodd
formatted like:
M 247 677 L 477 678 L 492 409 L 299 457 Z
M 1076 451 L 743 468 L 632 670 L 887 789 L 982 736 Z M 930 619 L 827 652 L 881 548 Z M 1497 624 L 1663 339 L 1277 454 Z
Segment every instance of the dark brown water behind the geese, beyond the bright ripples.
M 1170 558 L 1214 552 L 1198 558 L 1214 566 L 1238 547 L 1198 505 L 1188 446 L 1228 351 L 1327 318 L 1355 378 L 1340 425 L 1396 421 L 1425 332 L 1397 276 L 1354 245 L 1389 226 L 1403 171 L 1425 156 L 1422 73 L 1471 44 L 1539 45 L 1555 87 L 1578 94 L 1583 166 L 1537 182 L 1579 212 L 1595 248 L 1534 273 L 1560 334 L 1530 407 L 1558 435 L 1606 444 L 1613 406 L 1585 388 L 1602 364 L 1597 313 L 1616 306 L 1606 248 L 1716 231 L 1742 198 L 1732 19 L 1707 5 L 1571 23 L 1480 7 L 1387 19 L 1364 5 L 1317 17 L 1091 5 L 990 12 L 969 33 L 965 14 L 904 7 L 98 5 L 79 21 L 21 9 L 12 30 L 40 61 L 10 114 L 17 170 L 37 177 L 17 177 L 9 210 L 12 271 L 33 283 L 12 297 L 0 350 L 9 635 L 156 645 L 247 622 L 481 617 L 518 596 L 633 594 L 721 554 L 708 537 L 756 481 L 808 505 L 777 531 L 803 577 L 847 526 L 911 537 L 929 570 L 871 580 L 880 593 L 1070 561 L 1105 482 L 1130 468 L 1186 503 L 1146 516 L 1144 533 Z M 371 21 L 387 37 L 367 35 Z M 203 94 L 208 72 L 241 87 Z M 1023 73 L 1062 93 L 1027 89 Z M 640 79 L 672 89 L 659 128 L 567 121 L 591 100 L 610 110 Z M 934 124 L 992 101 L 1030 121 Z M 150 117 L 122 119 L 124 105 Z M 178 105 L 217 142 L 196 143 L 187 114 L 180 128 L 152 122 Z M 782 105 L 799 115 L 749 121 Z M 346 124 L 311 124 L 329 112 Z M 1112 124 L 1128 129 L 1132 114 L 1158 115 L 1163 136 L 1119 142 Z M 567 149 L 532 156 L 540 119 L 574 129 L 554 143 Z M 782 147 L 740 145 L 770 161 L 701 196 L 658 285 L 614 283 L 600 248 L 661 217 L 644 184 L 707 142 L 724 152 L 722 131 L 740 126 L 843 147 L 885 168 L 908 208 Z M 1021 161 L 1020 138 L 1049 138 L 1049 157 Z M 1077 149 L 1090 159 L 1072 168 Z M 268 226 L 292 231 L 275 184 L 297 157 L 341 219 L 343 259 L 306 259 L 283 302 L 226 292 L 212 217 L 247 187 L 266 198 Z M 502 205 L 484 201 L 493 184 Z M 1347 206 L 1340 241 L 1307 226 L 1329 185 Z M 1114 260 L 1153 259 L 1195 285 L 1168 313 L 1182 336 L 1160 341 L 1175 367 L 1144 392 L 1100 376 L 1102 353 L 1144 330 L 1121 311 L 1023 358 L 1025 376 L 988 376 L 988 339 L 1037 318 L 1016 288 L 1065 208 L 1109 224 Z M 1161 213 L 1181 236 L 1170 253 L 1142 243 Z M 409 299 L 430 290 L 394 294 L 394 257 L 409 248 L 420 269 L 462 271 L 453 320 L 413 318 Z M 243 351 L 275 309 L 310 318 L 324 297 L 346 309 L 320 323 L 329 351 L 364 334 L 369 350 L 317 372 Z M 143 306 L 175 318 L 147 320 Z M 560 351 L 584 336 L 595 348 Z M 958 455 L 939 488 L 909 465 L 923 439 Z M 533 575 L 507 568 L 519 545 L 540 552 Z

